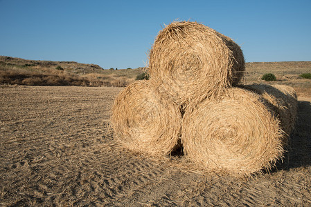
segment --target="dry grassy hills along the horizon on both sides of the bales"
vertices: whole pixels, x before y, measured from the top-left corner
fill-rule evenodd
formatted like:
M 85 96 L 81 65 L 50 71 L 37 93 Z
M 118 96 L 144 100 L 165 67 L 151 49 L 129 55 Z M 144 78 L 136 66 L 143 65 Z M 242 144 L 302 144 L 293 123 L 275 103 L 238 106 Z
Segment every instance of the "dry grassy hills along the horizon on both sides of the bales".
M 311 61 L 245 63 L 243 83 L 264 82 L 265 73 L 278 81 L 299 88 L 311 88 L 311 81 L 299 75 L 311 72 Z M 116 86 L 132 83 L 147 68 L 103 69 L 95 64 L 75 61 L 36 61 L 0 56 L 0 84 L 28 86 Z

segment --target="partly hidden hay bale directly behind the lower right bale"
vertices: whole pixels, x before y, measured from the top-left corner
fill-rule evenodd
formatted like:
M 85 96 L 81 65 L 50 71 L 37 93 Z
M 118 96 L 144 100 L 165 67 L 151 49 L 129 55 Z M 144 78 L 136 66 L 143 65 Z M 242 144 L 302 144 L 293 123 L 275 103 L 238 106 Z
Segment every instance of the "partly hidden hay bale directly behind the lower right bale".
M 270 103 L 269 108 L 276 112 L 281 121 L 281 127 L 290 135 L 294 129 L 297 114 L 297 96 L 294 88 L 284 85 L 251 84 L 243 86 L 258 93 L 263 99 Z

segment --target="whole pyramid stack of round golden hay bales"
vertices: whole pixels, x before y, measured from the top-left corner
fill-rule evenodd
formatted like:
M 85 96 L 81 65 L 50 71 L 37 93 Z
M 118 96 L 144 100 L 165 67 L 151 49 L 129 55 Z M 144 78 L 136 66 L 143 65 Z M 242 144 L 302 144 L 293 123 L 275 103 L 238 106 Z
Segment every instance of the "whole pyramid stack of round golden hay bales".
M 181 143 L 193 164 L 238 176 L 283 157 L 295 92 L 238 86 L 245 60 L 229 37 L 173 22 L 159 32 L 149 58 L 150 80 L 128 86 L 114 103 L 112 124 L 123 146 L 163 157 Z

